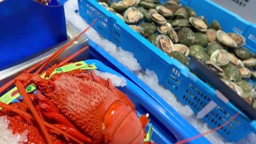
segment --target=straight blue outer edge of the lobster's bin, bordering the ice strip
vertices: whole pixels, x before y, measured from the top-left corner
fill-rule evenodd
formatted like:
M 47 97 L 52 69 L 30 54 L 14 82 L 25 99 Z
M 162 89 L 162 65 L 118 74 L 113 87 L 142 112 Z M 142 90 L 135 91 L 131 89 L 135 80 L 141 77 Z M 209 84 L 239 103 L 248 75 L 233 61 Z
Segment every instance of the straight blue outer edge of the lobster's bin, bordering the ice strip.
M 136 75 L 131 73 L 130 70 L 124 67 L 121 63 L 119 63 L 116 59 L 110 56 L 106 51 L 104 51 L 100 46 L 96 45 L 91 40 L 90 44 L 90 58 L 100 59 L 100 61 L 104 62 L 108 67 L 118 71 L 121 75 L 127 77 L 127 79 L 136 82 L 139 87 L 143 87 L 143 90 L 152 97 L 156 102 L 159 103 L 168 113 L 172 113 L 172 117 L 168 116 L 165 119 L 163 124 L 168 125 L 168 129 L 172 131 L 172 133 L 176 136 L 178 141 L 188 139 L 195 135 L 199 135 L 200 133 L 193 128 L 185 119 L 179 115 L 175 110 L 172 109 L 170 105 L 166 103 L 162 98 L 160 98 L 152 89 L 150 89 L 144 82 L 142 82 Z M 205 137 L 201 137 L 199 139 L 190 141 L 189 143 L 210 143 Z

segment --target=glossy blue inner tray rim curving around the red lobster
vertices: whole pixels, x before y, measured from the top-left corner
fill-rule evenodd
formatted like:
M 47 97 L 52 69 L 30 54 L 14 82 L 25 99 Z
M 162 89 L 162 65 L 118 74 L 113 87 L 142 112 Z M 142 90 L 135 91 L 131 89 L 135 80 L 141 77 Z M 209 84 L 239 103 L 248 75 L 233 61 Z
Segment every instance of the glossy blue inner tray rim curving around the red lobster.
M 91 54 L 92 53 L 93 52 L 91 52 Z M 97 55 L 97 54 L 93 53 L 93 55 Z M 117 71 L 114 71 L 113 69 L 107 67 L 102 62 L 96 59 L 88 59 L 85 61 L 85 63 L 95 64 L 97 67 L 97 70 L 100 70 L 102 72 L 107 72 L 110 74 L 118 75 L 120 77 L 124 77 L 123 75 L 117 73 Z M 166 111 L 164 107 L 159 105 L 157 101 L 152 99 L 147 93 L 145 93 L 135 83 L 126 79 L 125 77 L 124 79 L 126 80 L 127 85 L 124 87 L 118 87 L 118 89 L 123 93 L 125 93 L 132 100 L 133 104 L 135 104 L 138 117 L 140 117 L 141 114 L 145 115 L 146 113 L 149 113 L 150 122 L 147 124 L 146 130 L 148 130 L 150 124 L 152 123 L 153 124 L 152 140 L 154 142 L 175 143 L 177 142 L 179 137 L 181 137 L 180 135 L 188 134 L 190 131 L 193 132 L 193 130 L 190 130 L 188 127 L 186 127 L 187 125 L 184 125 L 182 119 L 177 119 L 177 116 L 175 115 L 176 113 L 170 113 Z M 13 102 L 18 102 L 18 100 L 15 99 Z M 205 139 L 198 139 L 198 140 L 191 141 L 189 143 L 210 143 L 210 142 L 206 141 Z

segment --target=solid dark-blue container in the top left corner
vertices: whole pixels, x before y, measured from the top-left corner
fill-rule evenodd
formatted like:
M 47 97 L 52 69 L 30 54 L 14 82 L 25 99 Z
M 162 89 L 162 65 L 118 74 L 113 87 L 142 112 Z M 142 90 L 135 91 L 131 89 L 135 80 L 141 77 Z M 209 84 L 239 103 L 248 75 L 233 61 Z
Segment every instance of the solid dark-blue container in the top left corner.
M 49 6 L 5 0 L 0 3 L 0 23 L 1 70 L 67 39 L 64 8 L 56 0 Z

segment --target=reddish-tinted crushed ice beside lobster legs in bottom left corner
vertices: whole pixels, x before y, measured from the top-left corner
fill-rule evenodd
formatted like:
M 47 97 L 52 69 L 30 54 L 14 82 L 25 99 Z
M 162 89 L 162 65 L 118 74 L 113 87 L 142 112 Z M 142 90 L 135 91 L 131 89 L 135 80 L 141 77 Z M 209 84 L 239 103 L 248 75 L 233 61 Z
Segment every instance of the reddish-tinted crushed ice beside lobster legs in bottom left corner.
M 12 130 L 8 129 L 9 121 L 5 116 L 0 117 L 0 142 L 2 144 L 16 144 L 27 141 L 27 130 L 21 135 L 13 134 Z

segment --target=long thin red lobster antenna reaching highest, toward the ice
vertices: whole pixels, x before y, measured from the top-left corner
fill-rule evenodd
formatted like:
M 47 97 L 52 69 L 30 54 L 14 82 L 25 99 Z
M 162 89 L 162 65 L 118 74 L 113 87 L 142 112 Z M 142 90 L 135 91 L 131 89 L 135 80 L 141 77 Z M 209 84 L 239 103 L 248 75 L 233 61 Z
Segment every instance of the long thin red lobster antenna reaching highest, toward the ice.
M 89 29 L 92 25 L 94 25 L 94 23 L 96 22 L 96 20 L 97 20 L 97 18 L 96 18 L 96 19 L 91 23 L 91 25 L 90 25 L 88 28 L 86 28 L 82 33 L 80 33 L 80 34 L 79 34 L 77 37 L 75 37 L 73 40 L 69 41 L 69 43 L 68 43 L 67 45 L 63 46 L 63 47 L 60 49 L 60 51 L 57 51 L 57 52 L 55 52 L 53 55 L 51 55 L 51 56 L 50 56 L 50 57 L 51 57 L 50 61 L 44 63 L 44 64 L 42 65 L 42 67 L 40 67 L 40 68 L 36 71 L 35 74 L 39 74 L 39 73 L 46 67 L 46 65 L 49 65 L 51 62 L 53 62 L 53 60 L 54 60 L 57 56 L 59 56 L 61 52 L 63 52 L 64 50 L 66 50 L 68 46 L 70 46 L 75 40 L 77 40 L 81 35 L 83 35 L 86 31 L 88 31 L 88 29 Z

